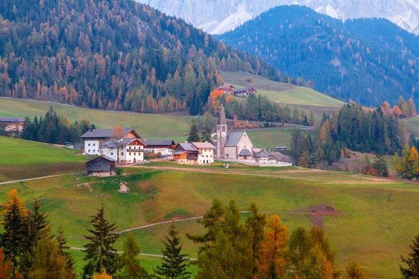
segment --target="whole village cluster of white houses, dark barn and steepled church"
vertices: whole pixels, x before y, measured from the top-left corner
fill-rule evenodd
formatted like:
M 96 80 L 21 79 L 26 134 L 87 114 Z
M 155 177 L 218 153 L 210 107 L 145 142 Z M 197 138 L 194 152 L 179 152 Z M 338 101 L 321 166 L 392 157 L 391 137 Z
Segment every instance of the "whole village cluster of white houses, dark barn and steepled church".
M 272 160 L 267 151 L 253 146 L 245 131 L 229 133 L 223 105 L 216 126 L 216 140 L 213 142 L 175 144 L 173 140 L 142 140 L 132 128 L 122 130 L 120 137 L 115 137 L 113 129 L 90 129 L 82 135 L 84 153 L 99 156 L 86 163 L 87 174 L 112 175 L 115 165 L 143 163 L 145 154 L 174 160 L 182 165 L 207 165 L 214 163 L 215 159 L 258 166 L 291 165 Z

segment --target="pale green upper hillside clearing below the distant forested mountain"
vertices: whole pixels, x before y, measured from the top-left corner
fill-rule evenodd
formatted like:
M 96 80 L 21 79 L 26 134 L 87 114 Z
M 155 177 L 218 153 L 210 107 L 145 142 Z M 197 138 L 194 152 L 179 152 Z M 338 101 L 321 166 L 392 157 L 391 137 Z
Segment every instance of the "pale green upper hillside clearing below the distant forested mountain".
M 258 93 L 267 96 L 268 100 L 283 105 L 297 105 L 300 109 L 307 111 L 313 108 L 317 116 L 323 114 L 323 112 L 339 111 L 344 105 L 344 102 L 318 91 L 293 84 L 273 82 L 249 73 L 221 72 L 221 75 L 225 84 L 232 84 L 236 88 L 253 87 Z M 249 77 L 253 78 L 253 82 L 248 81 Z M 240 100 L 244 101 L 245 99 Z

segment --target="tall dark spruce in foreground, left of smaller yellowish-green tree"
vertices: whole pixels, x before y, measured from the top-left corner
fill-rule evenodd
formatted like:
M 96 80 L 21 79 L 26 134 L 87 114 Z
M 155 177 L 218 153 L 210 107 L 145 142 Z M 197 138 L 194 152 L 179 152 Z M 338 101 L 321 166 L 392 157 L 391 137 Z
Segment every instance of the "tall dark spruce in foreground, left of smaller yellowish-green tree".
M 94 273 L 102 273 L 106 269 L 111 275 L 117 271 L 117 250 L 113 247 L 119 234 L 112 234 L 116 230 L 116 223 L 109 223 L 105 218 L 105 206 L 98 209 L 95 216 L 91 216 L 92 229 L 87 229 L 89 236 L 84 236 L 89 243 L 84 245 L 88 261 L 84 266 L 83 276 L 93 276 Z

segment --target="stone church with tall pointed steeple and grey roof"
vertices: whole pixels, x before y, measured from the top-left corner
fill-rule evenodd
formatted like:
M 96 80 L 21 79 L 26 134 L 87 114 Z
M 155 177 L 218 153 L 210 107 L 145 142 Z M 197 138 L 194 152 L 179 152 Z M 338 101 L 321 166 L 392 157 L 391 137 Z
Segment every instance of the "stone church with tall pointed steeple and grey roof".
M 221 159 L 253 159 L 253 144 L 245 131 L 228 133 L 226 112 L 221 105 L 216 125 L 216 156 Z

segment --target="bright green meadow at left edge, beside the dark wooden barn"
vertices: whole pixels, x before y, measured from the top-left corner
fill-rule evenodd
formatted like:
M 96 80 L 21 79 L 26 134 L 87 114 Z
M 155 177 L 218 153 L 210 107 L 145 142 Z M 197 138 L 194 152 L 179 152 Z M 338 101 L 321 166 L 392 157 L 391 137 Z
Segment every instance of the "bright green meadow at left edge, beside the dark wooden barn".
M 86 156 L 52 144 L 0 137 L 0 182 L 78 172 Z

